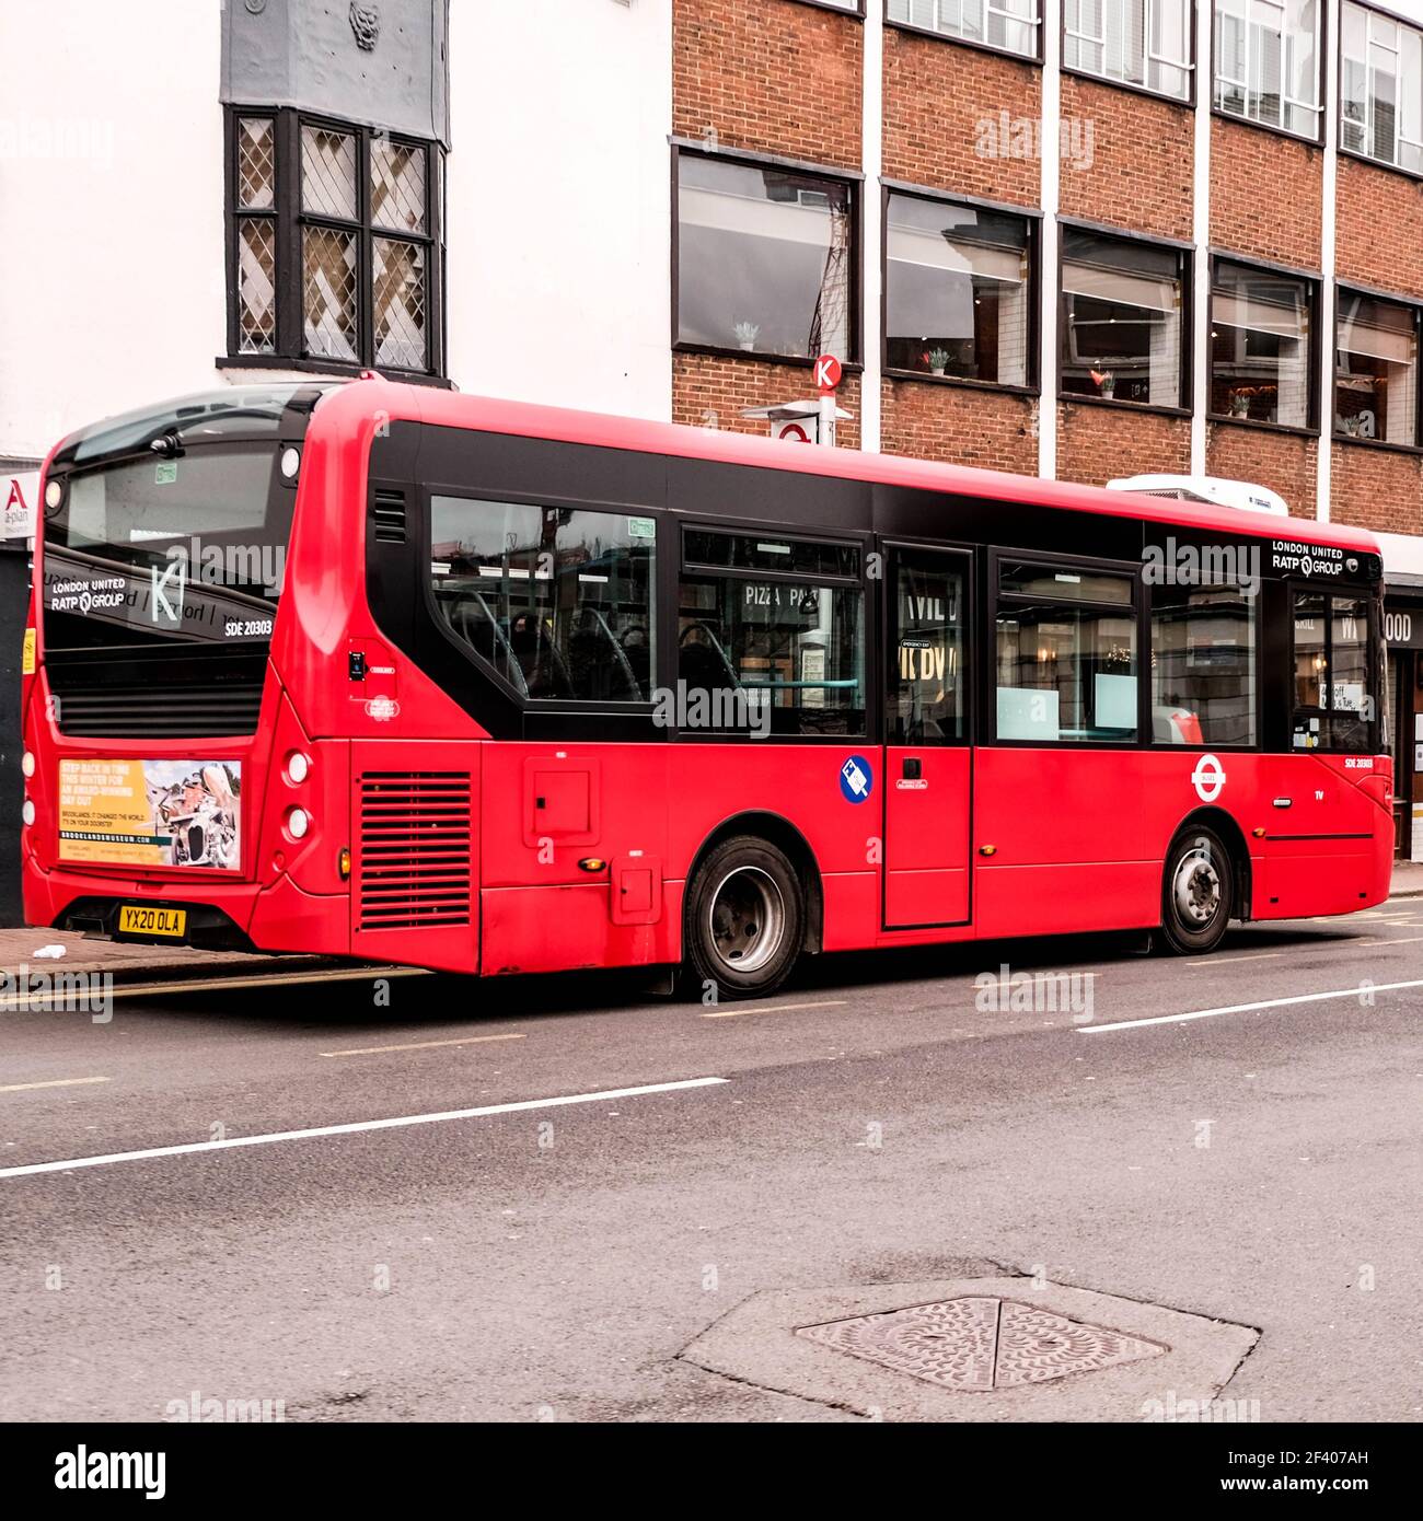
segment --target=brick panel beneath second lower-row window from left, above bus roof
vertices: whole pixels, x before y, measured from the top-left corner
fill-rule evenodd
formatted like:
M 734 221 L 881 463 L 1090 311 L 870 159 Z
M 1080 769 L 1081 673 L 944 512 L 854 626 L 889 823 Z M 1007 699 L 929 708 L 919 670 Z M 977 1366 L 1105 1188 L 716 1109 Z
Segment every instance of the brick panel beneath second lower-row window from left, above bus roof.
M 1038 473 L 1036 397 L 890 379 L 881 382 L 881 395 L 887 455 Z

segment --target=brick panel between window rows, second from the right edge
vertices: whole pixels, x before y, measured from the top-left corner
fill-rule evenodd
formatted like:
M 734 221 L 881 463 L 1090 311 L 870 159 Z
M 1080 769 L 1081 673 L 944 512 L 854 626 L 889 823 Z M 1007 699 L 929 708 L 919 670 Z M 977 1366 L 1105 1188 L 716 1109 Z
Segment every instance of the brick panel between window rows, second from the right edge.
M 1278 132 L 1213 117 L 1210 240 L 1297 269 L 1320 268 L 1324 154 Z

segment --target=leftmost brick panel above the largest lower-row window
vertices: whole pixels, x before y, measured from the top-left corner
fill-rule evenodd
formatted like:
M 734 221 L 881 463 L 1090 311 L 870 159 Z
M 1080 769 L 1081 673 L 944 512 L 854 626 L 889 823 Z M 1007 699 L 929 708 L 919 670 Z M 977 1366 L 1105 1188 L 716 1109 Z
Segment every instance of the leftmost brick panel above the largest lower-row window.
M 673 131 L 857 169 L 863 30 L 796 0 L 673 0 Z

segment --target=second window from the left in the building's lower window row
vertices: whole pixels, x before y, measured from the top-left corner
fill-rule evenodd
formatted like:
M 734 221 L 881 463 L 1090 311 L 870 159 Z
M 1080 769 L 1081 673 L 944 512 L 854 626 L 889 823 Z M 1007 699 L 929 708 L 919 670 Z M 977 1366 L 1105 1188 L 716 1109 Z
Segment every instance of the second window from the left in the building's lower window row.
M 992 385 L 1036 383 L 1032 242 L 1029 218 L 892 195 L 886 367 Z

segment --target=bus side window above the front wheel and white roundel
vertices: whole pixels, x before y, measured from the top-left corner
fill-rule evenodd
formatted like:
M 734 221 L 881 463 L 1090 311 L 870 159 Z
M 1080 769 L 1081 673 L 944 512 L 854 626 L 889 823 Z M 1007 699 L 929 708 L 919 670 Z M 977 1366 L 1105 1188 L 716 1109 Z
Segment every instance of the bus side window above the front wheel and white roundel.
M 1256 613 L 1237 586 L 1155 586 L 1151 713 L 1158 745 L 1256 742 Z

